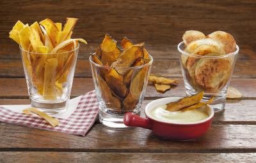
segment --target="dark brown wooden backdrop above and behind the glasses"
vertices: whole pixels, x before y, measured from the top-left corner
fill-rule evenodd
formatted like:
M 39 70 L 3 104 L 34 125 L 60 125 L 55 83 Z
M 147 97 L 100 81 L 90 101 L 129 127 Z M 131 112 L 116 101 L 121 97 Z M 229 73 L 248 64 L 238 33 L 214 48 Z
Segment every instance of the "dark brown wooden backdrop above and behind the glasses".
M 127 36 L 148 45 L 177 45 L 186 30 L 227 31 L 241 47 L 255 50 L 255 1 L 1 1 L 0 46 L 8 40 L 12 25 L 51 18 L 65 22 L 79 18 L 74 38 L 99 43 L 106 32 L 117 40 Z M 1 46 L 2 47 L 2 46 Z

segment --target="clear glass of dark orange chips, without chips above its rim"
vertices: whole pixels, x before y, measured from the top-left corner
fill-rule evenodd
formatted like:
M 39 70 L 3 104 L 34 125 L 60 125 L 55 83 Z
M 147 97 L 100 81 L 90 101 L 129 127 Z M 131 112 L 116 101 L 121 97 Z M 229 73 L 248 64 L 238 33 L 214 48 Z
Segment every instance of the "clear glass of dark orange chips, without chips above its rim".
M 124 128 L 124 114 L 139 114 L 148 83 L 148 76 L 153 59 L 143 66 L 113 67 L 102 66 L 93 62 L 90 57 L 92 76 L 99 103 L 99 120 L 102 124 L 113 128 Z M 105 75 L 111 71 L 122 72 Z M 106 77 L 108 76 L 108 77 Z M 121 77 L 120 77 L 121 76 Z

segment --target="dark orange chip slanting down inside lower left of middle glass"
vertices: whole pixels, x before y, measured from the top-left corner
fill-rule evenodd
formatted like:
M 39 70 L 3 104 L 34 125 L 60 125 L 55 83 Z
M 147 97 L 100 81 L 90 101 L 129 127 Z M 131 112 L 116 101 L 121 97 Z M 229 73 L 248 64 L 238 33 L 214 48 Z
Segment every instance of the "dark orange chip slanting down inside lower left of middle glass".
M 109 108 L 113 108 L 114 110 L 121 111 L 121 102 L 118 97 L 113 94 L 112 90 L 108 87 L 108 84 L 104 79 L 101 78 L 101 76 L 97 75 L 97 81 L 99 85 L 100 92 L 102 94 L 102 98 L 104 99 L 106 106 Z

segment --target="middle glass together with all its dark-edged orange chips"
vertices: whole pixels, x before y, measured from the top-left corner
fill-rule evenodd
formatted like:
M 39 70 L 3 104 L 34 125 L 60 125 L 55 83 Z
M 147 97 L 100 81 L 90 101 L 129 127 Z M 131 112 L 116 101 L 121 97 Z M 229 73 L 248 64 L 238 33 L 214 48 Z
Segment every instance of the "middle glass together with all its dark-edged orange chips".
M 144 43 L 134 45 L 124 38 L 121 45 L 118 48 L 115 39 L 106 34 L 90 56 L 100 122 L 115 128 L 126 127 L 125 113 L 140 113 L 153 62 Z

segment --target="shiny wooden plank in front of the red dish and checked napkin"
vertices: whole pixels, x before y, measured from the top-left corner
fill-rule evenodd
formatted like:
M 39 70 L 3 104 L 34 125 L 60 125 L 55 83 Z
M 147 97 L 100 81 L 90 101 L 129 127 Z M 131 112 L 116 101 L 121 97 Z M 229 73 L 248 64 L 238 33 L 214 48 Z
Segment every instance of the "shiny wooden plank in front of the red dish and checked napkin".
M 194 141 L 166 141 L 147 129 L 111 130 L 95 124 L 88 134 L 0 123 L 0 151 L 30 152 L 256 152 L 256 125 L 218 125 Z

